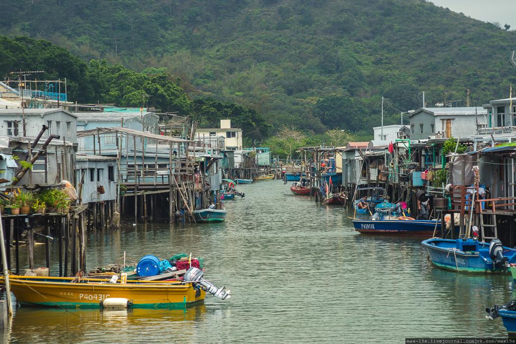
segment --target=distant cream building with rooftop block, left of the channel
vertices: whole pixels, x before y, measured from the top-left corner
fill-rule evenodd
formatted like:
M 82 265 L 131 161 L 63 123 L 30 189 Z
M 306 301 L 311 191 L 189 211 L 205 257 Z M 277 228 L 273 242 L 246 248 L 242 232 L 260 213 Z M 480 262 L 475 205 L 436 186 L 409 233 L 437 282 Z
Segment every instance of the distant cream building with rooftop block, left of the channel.
M 224 141 L 223 147 L 220 138 Z M 211 144 L 221 150 L 241 151 L 242 129 L 232 128 L 231 120 L 220 120 L 220 128 L 197 128 L 196 141 Z

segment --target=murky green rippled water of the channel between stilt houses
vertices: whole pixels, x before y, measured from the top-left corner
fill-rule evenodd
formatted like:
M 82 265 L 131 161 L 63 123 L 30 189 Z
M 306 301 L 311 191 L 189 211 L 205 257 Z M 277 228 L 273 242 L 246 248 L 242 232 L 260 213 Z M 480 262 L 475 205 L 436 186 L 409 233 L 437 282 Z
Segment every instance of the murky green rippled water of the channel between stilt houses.
M 361 235 L 347 210 L 294 196 L 280 181 L 240 186 L 224 223 L 91 232 L 88 267 L 193 252 L 232 299 L 185 310 L 21 307 L 4 342 L 404 342 L 502 337 L 484 308 L 513 295 L 509 276 L 434 268 L 420 239 Z M 57 256 L 55 244 L 54 258 Z M 36 249 L 44 266 L 44 247 Z M 56 259 L 54 259 L 56 261 Z M 54 271 L 57 266 L 54 265 Z

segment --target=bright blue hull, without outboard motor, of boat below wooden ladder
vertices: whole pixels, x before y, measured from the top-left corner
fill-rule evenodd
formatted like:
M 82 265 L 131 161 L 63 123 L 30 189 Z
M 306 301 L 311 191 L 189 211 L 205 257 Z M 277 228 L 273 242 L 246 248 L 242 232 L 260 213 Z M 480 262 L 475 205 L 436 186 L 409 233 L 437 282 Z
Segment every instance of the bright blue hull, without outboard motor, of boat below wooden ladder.
M 433 265 L 442 269 L 463 273 L 504 272 L 501 268 L 495 268 L 494 261 L 489 256 L 489 243 L 472 241 L 472 244 L 477 246 L 476 251 L 466 252 L 458 248 L 457 240 L 434 238 L 424 240 L 421 244 L 428 250 Z M 512 258 L 515 252 L 504 247 L 504 256 L 508 259 Z

